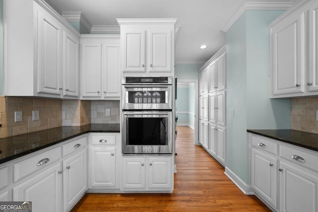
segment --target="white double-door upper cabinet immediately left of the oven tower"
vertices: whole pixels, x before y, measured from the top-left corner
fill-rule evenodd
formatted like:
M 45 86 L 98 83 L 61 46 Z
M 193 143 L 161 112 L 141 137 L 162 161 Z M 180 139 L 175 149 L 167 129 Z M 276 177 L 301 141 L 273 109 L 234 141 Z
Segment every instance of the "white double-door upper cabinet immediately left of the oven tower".
M 120 98 L 119 35 L 81 35 L 81 99 Z

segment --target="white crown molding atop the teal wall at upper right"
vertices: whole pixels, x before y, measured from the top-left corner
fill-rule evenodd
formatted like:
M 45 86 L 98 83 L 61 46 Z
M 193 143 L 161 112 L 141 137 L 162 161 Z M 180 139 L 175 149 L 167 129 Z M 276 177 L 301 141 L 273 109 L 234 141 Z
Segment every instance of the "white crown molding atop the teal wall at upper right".
M 242 0 L 221 31 L 227 32 L 245 10 L 287 10 L 299 1 L 300 0 Z

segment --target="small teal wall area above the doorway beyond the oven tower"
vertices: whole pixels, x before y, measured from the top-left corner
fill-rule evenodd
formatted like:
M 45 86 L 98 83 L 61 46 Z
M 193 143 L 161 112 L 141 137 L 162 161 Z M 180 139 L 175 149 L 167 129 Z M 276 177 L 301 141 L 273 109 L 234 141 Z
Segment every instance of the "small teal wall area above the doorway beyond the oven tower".
M 176 64 L 174 75 L 179 79 L 198 79 L 199 72 L 203 64 Z

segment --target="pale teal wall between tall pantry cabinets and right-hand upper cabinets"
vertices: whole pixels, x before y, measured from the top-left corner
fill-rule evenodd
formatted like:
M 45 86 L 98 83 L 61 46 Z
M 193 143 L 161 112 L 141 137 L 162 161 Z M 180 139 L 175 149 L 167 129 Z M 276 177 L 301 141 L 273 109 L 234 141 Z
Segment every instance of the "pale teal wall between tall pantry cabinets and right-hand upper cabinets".
M 246 130 L 290 128 L 289 99 L 269 99 L 267 24 L 282 12 L 247 10 L 226 33 L 227 166 L 245 183 L 249 178 Z

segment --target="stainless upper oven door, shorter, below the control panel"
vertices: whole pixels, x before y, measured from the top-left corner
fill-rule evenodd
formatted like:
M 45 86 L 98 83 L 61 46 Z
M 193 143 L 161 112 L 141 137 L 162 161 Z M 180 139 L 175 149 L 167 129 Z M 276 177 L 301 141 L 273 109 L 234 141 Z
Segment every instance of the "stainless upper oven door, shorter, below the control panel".
M 122 109 L 172 110 L 171 85 L 123 85 Z

